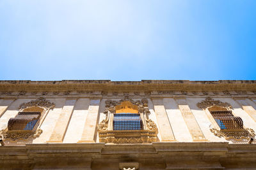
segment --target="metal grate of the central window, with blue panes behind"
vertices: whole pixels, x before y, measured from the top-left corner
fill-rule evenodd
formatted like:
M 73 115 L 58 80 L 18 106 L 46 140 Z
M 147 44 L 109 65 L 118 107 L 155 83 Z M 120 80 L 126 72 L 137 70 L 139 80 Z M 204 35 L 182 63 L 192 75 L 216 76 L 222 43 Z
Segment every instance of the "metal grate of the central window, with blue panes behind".
M 114 131 L 142 130 L 142 120 L 139 113 L 114 113 Z

